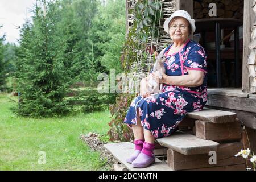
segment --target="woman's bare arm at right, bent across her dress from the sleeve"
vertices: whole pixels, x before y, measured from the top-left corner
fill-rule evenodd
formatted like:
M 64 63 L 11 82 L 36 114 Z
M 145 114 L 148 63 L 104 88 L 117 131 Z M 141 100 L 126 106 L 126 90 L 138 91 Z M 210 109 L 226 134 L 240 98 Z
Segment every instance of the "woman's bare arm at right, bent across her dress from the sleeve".
M 154 76 L 154 73 L 152 73 Z M 158 79 L 155 76 L 155 79 Z M 189 70 L 188 75 L 181 76 L 168 76 L 163 74 L 163 79 L 159 80 L 159 83 L 168 84 L 168 85 L 176 85 L 176 86 L 187 86 L 187 87 L 197 87 L 203 84 L 204 81 L 204 72 L 197 70 Z

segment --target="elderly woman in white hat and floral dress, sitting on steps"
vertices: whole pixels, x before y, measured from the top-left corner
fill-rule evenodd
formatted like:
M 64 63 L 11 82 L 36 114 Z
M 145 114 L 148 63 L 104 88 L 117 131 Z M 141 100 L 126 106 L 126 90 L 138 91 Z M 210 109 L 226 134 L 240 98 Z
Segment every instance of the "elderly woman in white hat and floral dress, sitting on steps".
M 150 96 L 147 77 L 143 78 L 140 96 L 131 103 L 124 121 L 134 133 L 135 150 L 126 160 L 133 167 L 154 163 L 155 138 L 173 134 L 187 112 L 202 110 L 207 102 L 207 57 L 204 48 L 188 38 L 195 29 L 195 20 L 184 10 L 175 11 L 164 22 L 173 44 L 163 49 L 162 93 L 158 98 Z

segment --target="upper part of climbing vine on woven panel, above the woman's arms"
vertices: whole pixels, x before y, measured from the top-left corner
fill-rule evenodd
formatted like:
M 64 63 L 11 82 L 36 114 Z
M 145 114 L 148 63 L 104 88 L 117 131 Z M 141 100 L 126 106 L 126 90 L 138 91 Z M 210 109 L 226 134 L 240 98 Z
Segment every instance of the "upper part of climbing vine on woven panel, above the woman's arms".
M 122 65 L 125 72 L 129 72 L 131 65 L 139 60 L 143 63 L 146 56 L 142 56 L 148 51 L 146 49 L 148 38 L 150 41 L 159 34 L 159 20 L 162 18 L 160 9 L 162 3 L 158 0 L 138 0 L 133 9 L 133 25 L 129 27 L 126 42 L 123 49 Z M 152 53 L 154 46 L 148 52 Z M 138 55 L 138 52 L 141 53 Z M 154 50 L 155 51 L 155 50 Z

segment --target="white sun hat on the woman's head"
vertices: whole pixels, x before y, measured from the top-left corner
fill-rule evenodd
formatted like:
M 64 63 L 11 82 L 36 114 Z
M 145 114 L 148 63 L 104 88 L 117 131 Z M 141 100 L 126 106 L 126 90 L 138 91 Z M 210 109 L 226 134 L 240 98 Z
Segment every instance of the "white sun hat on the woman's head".
M 166 21 L 164 22 L 164 30 L 169 34 L 169 23 L 171 22 L 172 18 L 174 17 L 182 17 L 188 20 L 190 26 L 191 26 L 191 34 L 193 34 L 196 31 L 196 26 L 195 26 L 195 19 L 191 19 L 191 16 L 189 13 L 185 10 L 177 10 L 175 11 L 170 18 L 167 18 Z

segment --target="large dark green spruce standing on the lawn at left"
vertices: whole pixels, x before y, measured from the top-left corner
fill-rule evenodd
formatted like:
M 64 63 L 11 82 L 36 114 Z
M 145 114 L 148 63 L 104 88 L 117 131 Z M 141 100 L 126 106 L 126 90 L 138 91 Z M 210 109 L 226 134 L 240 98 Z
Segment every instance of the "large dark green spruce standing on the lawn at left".
M 65 99 L 73 80 L 64 65 L 68 59 L 67 38 L 58 28 L 61 20 L 58 7 L 57 1 L 36 1 L 33 25 L 27 23 L 22 30 L 15 64 L 19 115 L 51 117 L 72 110 L 72 104 Z

